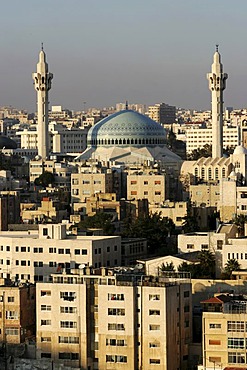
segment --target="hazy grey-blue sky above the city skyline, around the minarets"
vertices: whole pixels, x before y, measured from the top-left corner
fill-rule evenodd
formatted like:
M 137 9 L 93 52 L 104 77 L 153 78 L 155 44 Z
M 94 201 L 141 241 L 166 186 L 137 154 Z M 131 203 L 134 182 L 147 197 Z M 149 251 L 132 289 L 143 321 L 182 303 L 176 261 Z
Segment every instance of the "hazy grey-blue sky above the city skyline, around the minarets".
M 50 102 L 210 108 L 206 73 L 220 44 L 225 105 L 247 106 L 246 0 L 1 0 L 0 106 L 36 110 L 41 42 Z

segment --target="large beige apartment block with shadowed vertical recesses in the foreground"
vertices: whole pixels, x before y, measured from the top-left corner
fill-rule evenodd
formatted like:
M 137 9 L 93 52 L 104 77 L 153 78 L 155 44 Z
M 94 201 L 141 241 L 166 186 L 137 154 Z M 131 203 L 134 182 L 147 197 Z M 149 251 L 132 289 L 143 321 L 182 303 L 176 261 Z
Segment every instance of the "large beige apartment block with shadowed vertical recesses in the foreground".
M 37 284 L 37 358 L 83 369 L 188 368 L 189 280 L 89 268 Z

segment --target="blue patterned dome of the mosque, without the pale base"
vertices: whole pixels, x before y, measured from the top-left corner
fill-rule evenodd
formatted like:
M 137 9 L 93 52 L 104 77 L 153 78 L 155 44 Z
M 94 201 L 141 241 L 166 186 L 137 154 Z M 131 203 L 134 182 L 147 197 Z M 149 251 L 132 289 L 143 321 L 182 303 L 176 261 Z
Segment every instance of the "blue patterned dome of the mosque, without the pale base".
M 114 113 L 91 127 L 88 147 L 157 146 L 166 142 L 166 131 L 157 122 L 132 110 Z

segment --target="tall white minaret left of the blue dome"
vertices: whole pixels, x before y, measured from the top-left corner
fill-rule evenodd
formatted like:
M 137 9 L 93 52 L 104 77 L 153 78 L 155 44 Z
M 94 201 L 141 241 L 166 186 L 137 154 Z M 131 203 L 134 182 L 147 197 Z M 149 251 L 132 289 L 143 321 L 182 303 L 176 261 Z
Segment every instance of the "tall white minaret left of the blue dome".
M 43 44 L 39 53 L 37 72 L 32 74 L 34 87 L 37 91 L 38 105 L 38 155 L 46 159 L 49 154 L 48 145 L 48 91 L 51 88 L 53 74 L 48 72 Z

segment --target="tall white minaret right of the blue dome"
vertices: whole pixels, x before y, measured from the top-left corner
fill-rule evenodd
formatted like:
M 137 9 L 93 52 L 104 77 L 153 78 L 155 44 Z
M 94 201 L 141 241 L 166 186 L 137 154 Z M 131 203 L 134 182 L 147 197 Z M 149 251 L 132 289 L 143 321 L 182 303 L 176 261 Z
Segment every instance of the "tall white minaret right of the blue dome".
M 223 73 L 223 65 L 216 45 L 211 73 L 207 74 L 209 89 L 212 91 L 212 158 L 223 155 L 223 90 L 228 75 Z

